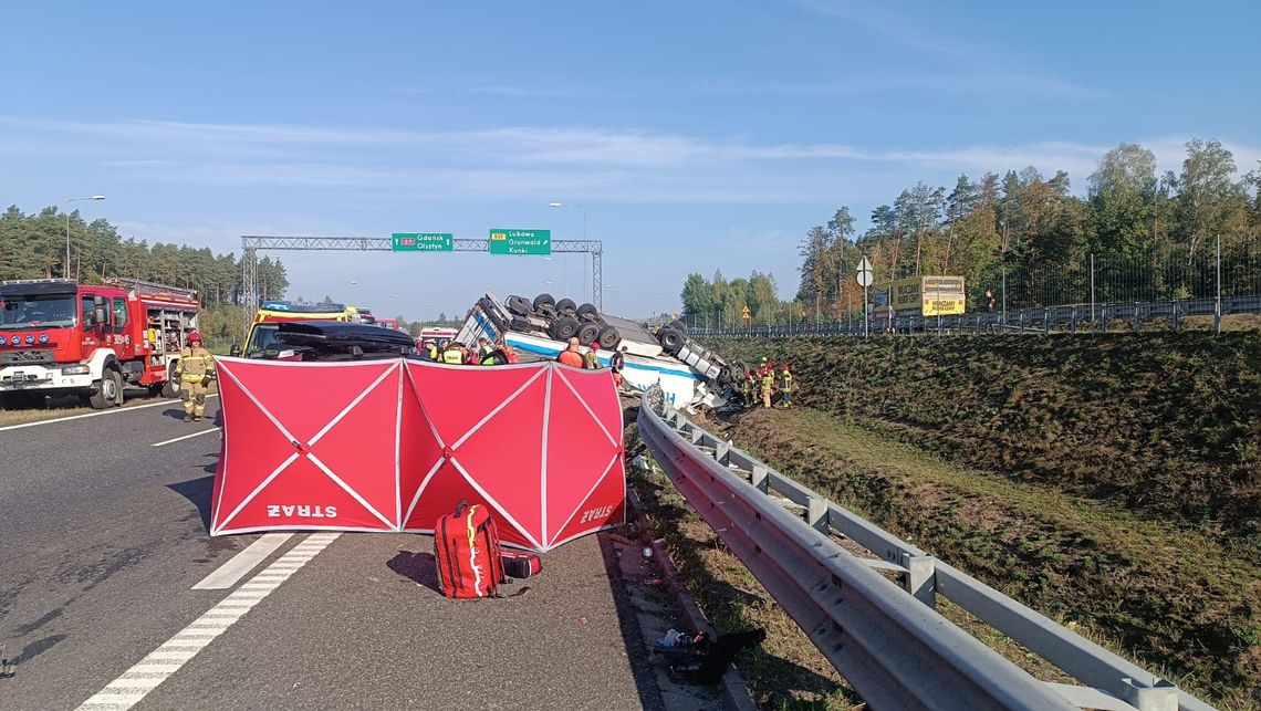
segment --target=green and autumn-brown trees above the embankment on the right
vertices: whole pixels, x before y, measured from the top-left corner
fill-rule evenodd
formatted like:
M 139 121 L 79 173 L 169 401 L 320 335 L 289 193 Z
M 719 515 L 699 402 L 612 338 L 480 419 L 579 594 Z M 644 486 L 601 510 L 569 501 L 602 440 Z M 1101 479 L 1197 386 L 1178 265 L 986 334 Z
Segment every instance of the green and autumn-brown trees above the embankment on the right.
M 1261 163 L 1241 171 L 1216 140 L 1194 139 L 1184 147 L 1182 169 L 1158 174 L 1151 150 L 1120 144 L 1087 176 L 1084 197 L 1071 192 L 1067 171 L 1045 178 L 1031 165 L 976 180 L 961 174 L 950 190 L 917 182 L 874 208 L 861 234 L 842 204 L 798 243 L 792 298 L 781 299 L 770 274 L 729 281 L 721 271 L 711 279 L 694 272 L 680 294 L 683 315 L 739 327 L 861 314 L 854 271 L 864 255 L 878 282 L 965 277 L 971 310 L 982 308 L 987 289 L 997 292 L 1002 284 L 1025 305 L 1078 300 L 1087 269 L 1108 270 L 1110 298 L 1199 295 L 1206 281 L 1199 272 L 1221 238 L 1223 261 L 1242 263 L 1247 287 L 1255 289 L 1261 281 Z M 748 321 L 740 319 L 745 308 Z

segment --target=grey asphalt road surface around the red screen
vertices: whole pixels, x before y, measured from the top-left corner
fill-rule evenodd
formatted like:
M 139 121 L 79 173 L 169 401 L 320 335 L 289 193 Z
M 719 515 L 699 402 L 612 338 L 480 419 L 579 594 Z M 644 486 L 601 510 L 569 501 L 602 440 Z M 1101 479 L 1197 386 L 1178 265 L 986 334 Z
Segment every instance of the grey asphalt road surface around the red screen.
M 0 708 L 660 705 L 594 537 L 496 600 L 443 598 L 412 535 L 294 535 L 194 590 L 260 538 L 207 535 L 217 400 L 207 415 L 0 429 Z

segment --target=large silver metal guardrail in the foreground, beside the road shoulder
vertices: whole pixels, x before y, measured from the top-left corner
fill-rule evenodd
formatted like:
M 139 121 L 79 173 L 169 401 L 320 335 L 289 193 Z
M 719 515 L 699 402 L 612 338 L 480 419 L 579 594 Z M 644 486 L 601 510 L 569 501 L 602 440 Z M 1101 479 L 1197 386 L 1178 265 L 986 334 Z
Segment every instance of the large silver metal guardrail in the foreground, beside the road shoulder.
M 1213 711 L 678 411 L 658 415 L 646 398 L 638 424 L 641 439 L 689 503 L 873 708 Z M 879 560 L 854 556 L 834 536 Z M 938 595 L 1084 686 L 1035 679 L 941 616 Z

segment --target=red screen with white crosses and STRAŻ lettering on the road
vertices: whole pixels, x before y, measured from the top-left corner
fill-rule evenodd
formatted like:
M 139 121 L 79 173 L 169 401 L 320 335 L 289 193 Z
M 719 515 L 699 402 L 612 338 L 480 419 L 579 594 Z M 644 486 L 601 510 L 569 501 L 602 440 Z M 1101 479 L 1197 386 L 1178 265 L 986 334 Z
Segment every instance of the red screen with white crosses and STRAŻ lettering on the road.
M 607 369 L 240 358 L 218 369 L 212 536 L 427 532 L 463 499 L 492 511 L 506 543 L 546 551 L 623 521 Z

